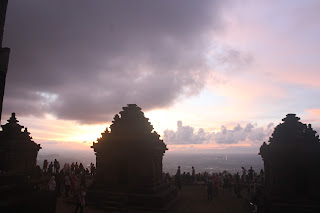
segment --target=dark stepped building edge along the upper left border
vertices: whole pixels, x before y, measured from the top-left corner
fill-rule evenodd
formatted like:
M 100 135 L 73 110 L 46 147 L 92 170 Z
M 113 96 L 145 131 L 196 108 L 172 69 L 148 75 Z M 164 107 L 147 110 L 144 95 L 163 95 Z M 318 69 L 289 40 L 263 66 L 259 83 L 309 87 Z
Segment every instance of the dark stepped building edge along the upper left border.
M 3 28 L 6 20 L 8 0 L 0 0 L 0 121 L 2 114 L 2 102 L 4 95 L 4 87 L 6 83 L 6 75 L 9 63 L 9 48 L 2 47 Z

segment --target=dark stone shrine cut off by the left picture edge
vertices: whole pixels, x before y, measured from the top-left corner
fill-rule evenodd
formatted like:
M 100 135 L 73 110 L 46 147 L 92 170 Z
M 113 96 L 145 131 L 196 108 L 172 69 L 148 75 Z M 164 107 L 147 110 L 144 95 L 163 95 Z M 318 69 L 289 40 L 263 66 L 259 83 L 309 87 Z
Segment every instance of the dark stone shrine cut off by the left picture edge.
M 36 167 L 40 144 L 32 141 L 27 128 L 18 124 L 15 113 L 8 123 L 1 125 L 0 170 L 9 173 L 31 173 Z

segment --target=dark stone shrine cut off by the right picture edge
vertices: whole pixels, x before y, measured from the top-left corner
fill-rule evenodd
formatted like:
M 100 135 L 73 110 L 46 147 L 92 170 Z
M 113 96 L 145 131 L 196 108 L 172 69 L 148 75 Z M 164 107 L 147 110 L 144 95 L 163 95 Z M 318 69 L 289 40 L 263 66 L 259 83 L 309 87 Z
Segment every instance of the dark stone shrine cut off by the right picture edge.
M 295 114 L 282 119 L 260 147 L 266 212 L 320 212 L 320 142 Z

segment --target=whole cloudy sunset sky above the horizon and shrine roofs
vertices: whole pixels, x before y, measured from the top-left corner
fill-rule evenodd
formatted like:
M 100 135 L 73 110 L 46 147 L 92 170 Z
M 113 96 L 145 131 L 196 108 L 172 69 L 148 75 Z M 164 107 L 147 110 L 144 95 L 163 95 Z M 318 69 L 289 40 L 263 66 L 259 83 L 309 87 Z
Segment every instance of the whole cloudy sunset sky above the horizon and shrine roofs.
M 127 104 L 169 152 L 258 153 L 320 130 L 320 2 L 10 0 L 3 103 L 41 153 L 90 149 Z

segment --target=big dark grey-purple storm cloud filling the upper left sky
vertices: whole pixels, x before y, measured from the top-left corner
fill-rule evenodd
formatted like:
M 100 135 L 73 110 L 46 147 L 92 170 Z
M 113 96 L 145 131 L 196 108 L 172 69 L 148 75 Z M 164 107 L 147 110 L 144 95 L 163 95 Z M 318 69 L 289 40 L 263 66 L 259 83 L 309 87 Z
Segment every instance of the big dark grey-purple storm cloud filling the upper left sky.
M 11 0 L 4 113 L 52 113 L 82 123 L 197 94 L 209 37 L 222 29 L 212 0 Z

